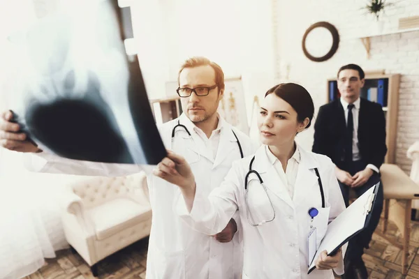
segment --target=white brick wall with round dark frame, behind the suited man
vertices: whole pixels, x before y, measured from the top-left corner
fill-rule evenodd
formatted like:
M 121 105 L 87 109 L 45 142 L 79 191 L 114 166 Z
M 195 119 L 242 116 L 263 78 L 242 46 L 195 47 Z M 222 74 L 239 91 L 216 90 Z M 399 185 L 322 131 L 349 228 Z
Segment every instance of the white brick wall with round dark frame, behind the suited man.
M 383 33 L 396 31 L 399 17 L 419 15 L 419 0 L 392 1 L 395 6 L 383 15 Z M 397 2 L 397 3 L 396 3 Z M 284 65 L 290 66 L 287 81 L 298 82 L 312 94 L 318 107 L 326 101 L 329 77 L 335 77 L 340 66 L 358 63 L 364 70 L 385 69 L 386 73 L 402 75 L 399 89 L 396 163 L 409 174 L 411 160 L 406 151 L 419 140 L 419 31 L 371 38 L 371 57 L 367 59 L 359 39 L 370 33 L 374 18 L 366 15 L 364 0 L 272 0 L 273 26 L 277 29 L 277 82 L 285 80 Z M 332 59 L 315 63 L 307 59 L 301 47 L 304 31 L 313 23 L 327 21 L 339 31 L 339 49 Z M 310 149 L 313 128 L 302 133 L 300 144 Z

